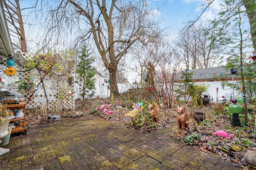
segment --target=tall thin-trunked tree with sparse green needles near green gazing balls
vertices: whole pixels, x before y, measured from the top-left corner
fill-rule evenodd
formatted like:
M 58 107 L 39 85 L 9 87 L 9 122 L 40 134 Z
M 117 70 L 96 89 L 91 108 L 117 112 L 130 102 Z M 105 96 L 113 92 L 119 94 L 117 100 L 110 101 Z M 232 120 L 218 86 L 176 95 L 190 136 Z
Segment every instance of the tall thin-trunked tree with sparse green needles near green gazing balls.
M 251 2 L 252 3 L 252 2 Z M 252 4 L 255 4 L 252 3 Z M 254 6 L 255 8 L 255 6 Z M 219 34 L 221 34 L 220 41 L 223 45 L 229 47 L 229 51 L 224 51 L 226 54 L 232 54 L 237 56 L 236 59 L 229 61 L 226 67 L 239 68 L 241 75 L 242 93 L 246 94 L 245 73 L 243 63 L 248 60 L 248 52 L 252 50 L 251 37 L 248 36 L 248 32 L 252 27 L 248 26 L 247 16 L 244 11 L 244 4 L 239 0 L 225 1 L 222 4 L 219 17 L 213 21 L 215 28 L 218 28 Z M 223 41 L 225 40 L 225 41 Z M 247 110 L 246 98 L 243 98 L 244 109 Z M 248 112 L 245 112 L 245 122 L 248 123 Z

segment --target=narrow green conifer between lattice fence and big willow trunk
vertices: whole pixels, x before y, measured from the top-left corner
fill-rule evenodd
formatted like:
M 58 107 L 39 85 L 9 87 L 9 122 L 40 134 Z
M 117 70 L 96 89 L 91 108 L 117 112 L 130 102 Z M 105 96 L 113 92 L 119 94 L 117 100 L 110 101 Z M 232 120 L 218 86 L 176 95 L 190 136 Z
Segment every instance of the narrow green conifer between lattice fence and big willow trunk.
M 92 63 L 95 61 L 94 57 L 91 57 L 89 49 L 86 46 L 80 51 L 79 63 L 77 65 L 76 73 L 80 75 L 80 90 L 83 100 L 85 97 L 93 97 L 95 93 L 95 79 L 93 78 L 96 73 L 96 68 L 92 67 Z

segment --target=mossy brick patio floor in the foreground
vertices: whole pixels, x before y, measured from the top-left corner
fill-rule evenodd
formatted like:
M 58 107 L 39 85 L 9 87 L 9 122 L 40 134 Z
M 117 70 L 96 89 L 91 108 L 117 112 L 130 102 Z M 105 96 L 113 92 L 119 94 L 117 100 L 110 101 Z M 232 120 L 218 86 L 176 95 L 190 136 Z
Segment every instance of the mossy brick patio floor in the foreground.
M 11 136 L 1 170 L 239 170 L 170 137 L 170 128 L 140 134 L 94 115 L 28 128 Z

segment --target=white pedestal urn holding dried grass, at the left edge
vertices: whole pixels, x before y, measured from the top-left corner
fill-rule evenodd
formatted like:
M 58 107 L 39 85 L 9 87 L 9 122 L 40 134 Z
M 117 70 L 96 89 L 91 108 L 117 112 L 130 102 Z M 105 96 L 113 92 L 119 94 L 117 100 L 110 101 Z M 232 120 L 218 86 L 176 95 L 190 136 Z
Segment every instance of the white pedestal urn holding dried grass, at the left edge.
M 8 124 L 9 124 L 9 110 L 5 105 L 0 105 L 0 142 L 2 142 L 2 138 L 9 134 Z M 9 152 L 9 149 L 0 148 L 0 155 L 6 154 Z

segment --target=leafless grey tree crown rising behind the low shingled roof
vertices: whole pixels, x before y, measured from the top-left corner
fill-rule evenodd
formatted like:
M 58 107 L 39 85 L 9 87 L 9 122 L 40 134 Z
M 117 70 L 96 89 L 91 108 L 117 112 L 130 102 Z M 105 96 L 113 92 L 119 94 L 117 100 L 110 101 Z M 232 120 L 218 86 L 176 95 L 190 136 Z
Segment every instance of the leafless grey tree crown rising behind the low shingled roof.
M 202 24 L 182 28 L 173 51 L 186 69 L 213 67 L 221 49 L 216 45 L 217 37 L 214 30 Z

